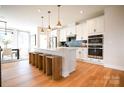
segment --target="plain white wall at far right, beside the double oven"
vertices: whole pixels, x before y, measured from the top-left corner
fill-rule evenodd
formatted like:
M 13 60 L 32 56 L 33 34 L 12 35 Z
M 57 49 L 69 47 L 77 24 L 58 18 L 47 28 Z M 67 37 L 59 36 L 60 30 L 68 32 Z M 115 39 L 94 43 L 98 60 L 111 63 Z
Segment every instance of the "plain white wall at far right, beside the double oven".
M 105 9 L 104 64 L 124 70 L 124 6 Z

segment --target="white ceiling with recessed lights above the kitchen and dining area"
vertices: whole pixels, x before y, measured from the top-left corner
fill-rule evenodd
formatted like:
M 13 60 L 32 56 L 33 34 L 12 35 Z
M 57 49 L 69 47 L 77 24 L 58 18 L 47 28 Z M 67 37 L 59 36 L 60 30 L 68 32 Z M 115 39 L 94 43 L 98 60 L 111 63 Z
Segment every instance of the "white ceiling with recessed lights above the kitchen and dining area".
M 108 6 L 96 5 L 63 5 L 60 8 L 60 20 L 62 25 L 90 18 L 103 13 L 104 8 Z M 38 12 L 38 9 L 41 12 Z M 36 30 L 41 26 L 41 16 L 44 16 L 44 26 L 48 25 L 48 13 L 51 11 L 51 26 L 57 24 L 57 6 L 56 5 L 2 5 L 0 7 L 0 20 L 8 22 L 9 27 L 22 30 Z M 83 14 L 80 14 L 80 10 Z

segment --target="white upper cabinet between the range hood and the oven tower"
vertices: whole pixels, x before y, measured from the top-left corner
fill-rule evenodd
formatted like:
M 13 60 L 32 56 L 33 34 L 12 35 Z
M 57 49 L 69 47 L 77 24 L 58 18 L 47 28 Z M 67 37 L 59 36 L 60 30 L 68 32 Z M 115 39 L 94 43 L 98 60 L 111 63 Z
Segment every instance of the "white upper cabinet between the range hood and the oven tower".
M 76 26 L 76 40 L 87 40 L 87 24 L 83 22 Z

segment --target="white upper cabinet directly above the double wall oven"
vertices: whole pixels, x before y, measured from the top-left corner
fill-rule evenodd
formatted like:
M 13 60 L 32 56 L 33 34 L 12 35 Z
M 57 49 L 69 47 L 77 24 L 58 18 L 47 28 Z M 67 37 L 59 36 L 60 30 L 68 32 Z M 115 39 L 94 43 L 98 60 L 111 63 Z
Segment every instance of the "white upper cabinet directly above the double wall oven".
M 87 20 L 88 34 L 99 34 L 104 32 L 104 16 Z

